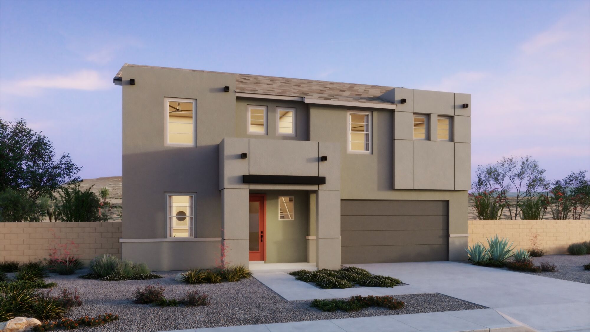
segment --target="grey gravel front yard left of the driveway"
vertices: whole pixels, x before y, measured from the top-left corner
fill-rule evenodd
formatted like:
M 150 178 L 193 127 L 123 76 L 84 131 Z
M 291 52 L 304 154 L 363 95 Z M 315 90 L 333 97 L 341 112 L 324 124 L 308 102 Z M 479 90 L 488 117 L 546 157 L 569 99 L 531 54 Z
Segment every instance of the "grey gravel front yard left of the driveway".
M 71 310 L 67 314 L 68 317 L 96 316 L 103 313 L 113 313 L 120 317 L 119 320 L 101 327 L 81 328 L 83 331 L 165 331 L 486 308 L 457 298 L 431 293 L 396 295 L 396 299 L 406 304 L 401 310 L 368 308 L 350 313 L 324 313 L 311 308 L 311 301 L 286 301 L 254 278 L 239 282 L 189 285 L 174 280 L 178 272 L 180 271 L 159 272 L 165 277 L 162 279 L 99 281 L 77 278 L 78 275 L 87 273 L 81 270 L 70 276 L 51 274 L 50 278 L 45 280 L 56 282 L 58 288 L 77 288 L 80 292 L 83 305 Z M 211 304 L 207 307 L 162 308 L 132 302 L 137 287 L 158 283 L 166 288 L 164 295 L 168 298 L 180 298 L 187 291 L 198 289 L 209 295 Z

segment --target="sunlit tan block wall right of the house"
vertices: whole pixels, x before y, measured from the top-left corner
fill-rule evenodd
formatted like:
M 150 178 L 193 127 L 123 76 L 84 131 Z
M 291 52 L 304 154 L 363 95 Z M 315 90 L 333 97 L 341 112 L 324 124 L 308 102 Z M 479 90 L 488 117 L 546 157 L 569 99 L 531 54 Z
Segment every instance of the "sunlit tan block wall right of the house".
M 496 234 L 514 242 L 516 249 L 529 249 L 533 233 L 547 253 L 565 253 L 569 245 L 590 241 L 590 220 L 469 220 L 469 245 Z

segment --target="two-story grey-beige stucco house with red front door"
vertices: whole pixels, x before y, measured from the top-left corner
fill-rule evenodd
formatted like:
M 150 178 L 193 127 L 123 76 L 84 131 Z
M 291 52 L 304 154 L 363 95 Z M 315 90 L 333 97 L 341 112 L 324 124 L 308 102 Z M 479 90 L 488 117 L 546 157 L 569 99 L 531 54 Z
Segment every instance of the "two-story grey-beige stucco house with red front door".
M 122 256 L 466 259 L 471 96 L 124 64 Z

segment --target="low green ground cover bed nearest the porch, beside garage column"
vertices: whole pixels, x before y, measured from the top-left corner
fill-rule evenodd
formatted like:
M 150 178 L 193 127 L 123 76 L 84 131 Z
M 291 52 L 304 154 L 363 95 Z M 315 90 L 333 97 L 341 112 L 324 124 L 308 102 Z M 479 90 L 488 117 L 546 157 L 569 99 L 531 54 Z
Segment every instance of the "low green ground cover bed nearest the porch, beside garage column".
M 314 282 L 323 289 L 350 288 L 355 285 L 363 287 L 394 287 L 402 284 L 401 280 L 391 276 L 373 275 L 365 269 L 347 266 L 339 270 L 320 269 L 317 271 L 299 270 L 290 272 L 295 279 Z

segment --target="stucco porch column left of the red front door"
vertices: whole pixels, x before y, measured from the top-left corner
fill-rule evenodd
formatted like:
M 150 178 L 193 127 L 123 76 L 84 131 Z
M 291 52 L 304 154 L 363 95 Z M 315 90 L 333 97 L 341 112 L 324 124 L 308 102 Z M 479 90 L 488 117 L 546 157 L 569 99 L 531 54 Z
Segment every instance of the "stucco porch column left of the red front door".
M 221 245 L 226 246 L 225 262 L 248 267 L 248 201 L 250 190 L 221 190 Z

